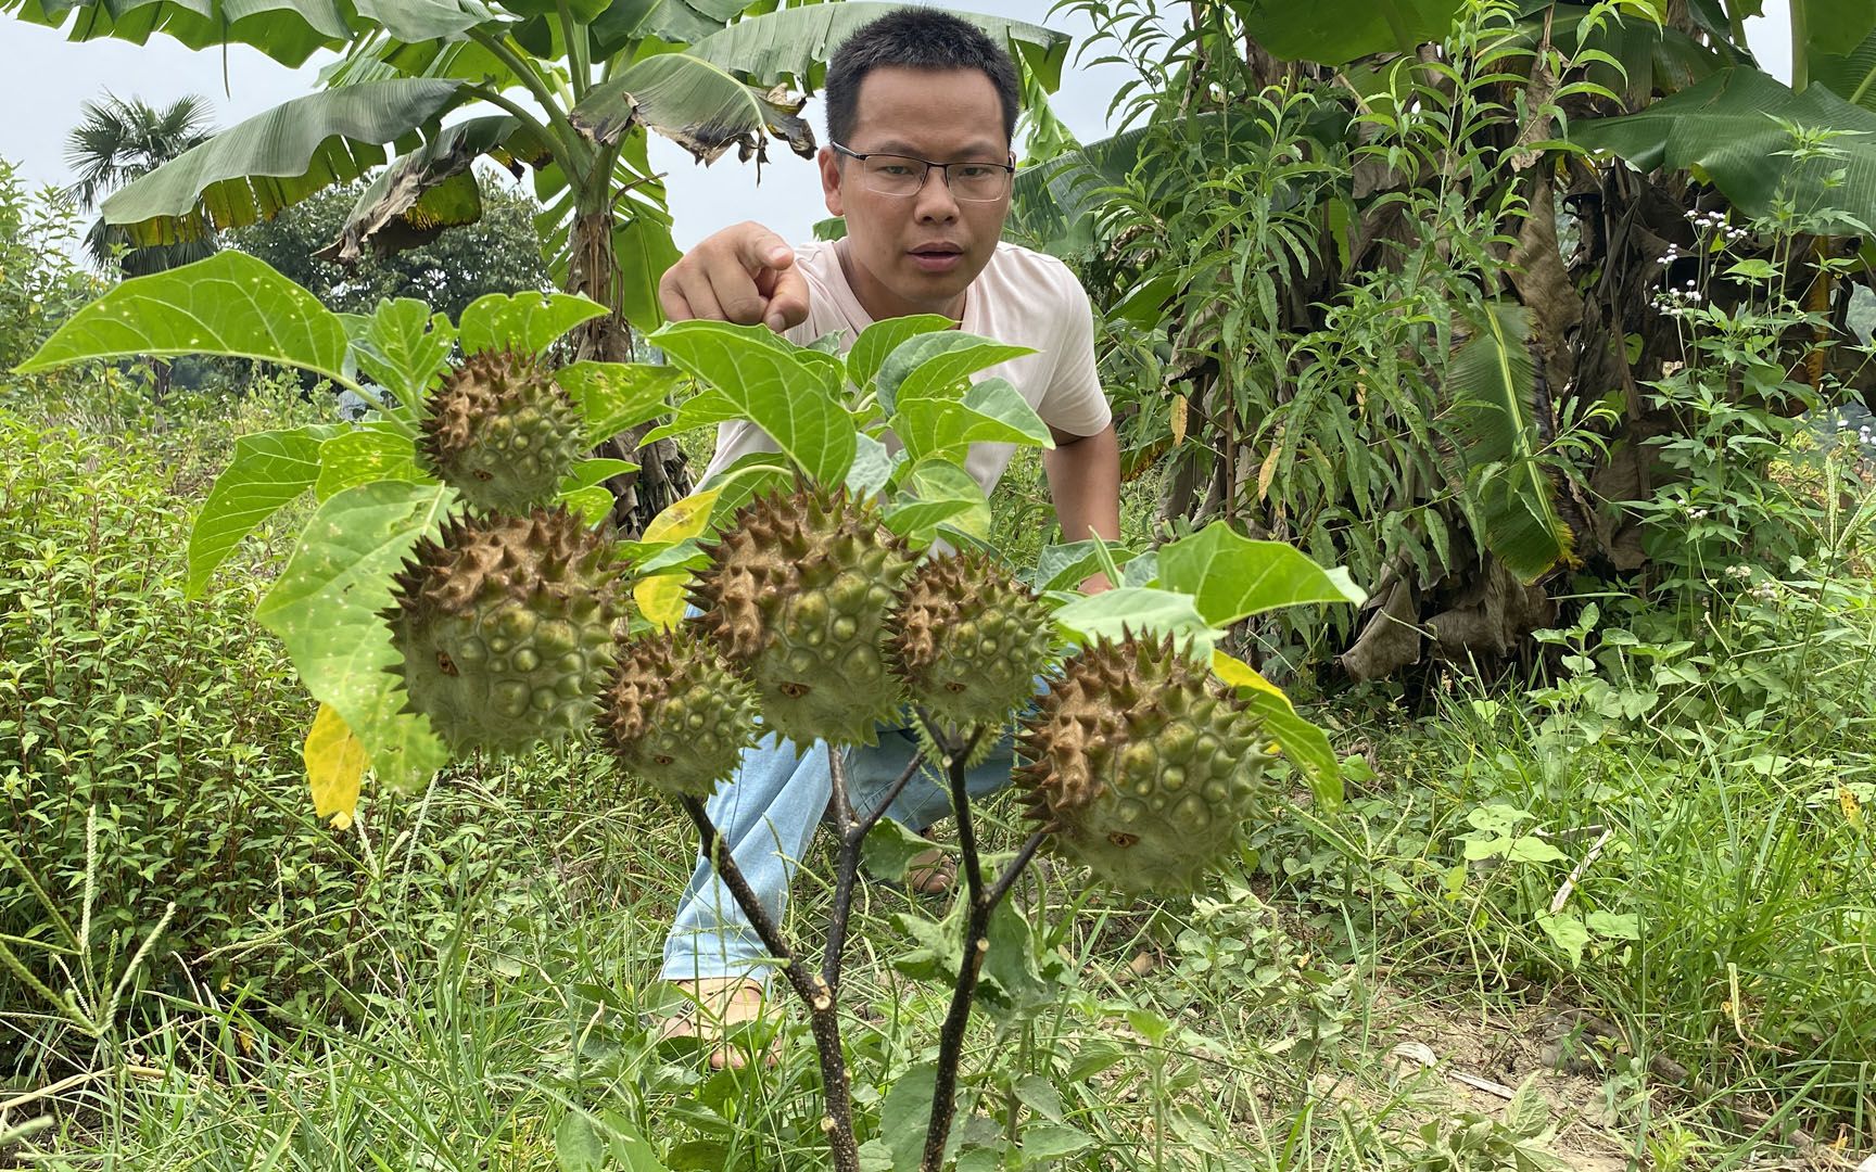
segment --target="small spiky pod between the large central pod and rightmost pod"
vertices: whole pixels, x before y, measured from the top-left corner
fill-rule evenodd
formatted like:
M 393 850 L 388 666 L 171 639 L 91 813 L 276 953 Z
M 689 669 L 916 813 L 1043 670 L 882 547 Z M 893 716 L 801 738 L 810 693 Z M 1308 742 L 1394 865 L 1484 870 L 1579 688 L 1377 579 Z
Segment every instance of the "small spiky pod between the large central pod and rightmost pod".
M 1000 722 L 1034 696 L 1054 645 L 1049 608 L 977 551 L 921 564 L 889 626 L 908 699 L 957 729 Z

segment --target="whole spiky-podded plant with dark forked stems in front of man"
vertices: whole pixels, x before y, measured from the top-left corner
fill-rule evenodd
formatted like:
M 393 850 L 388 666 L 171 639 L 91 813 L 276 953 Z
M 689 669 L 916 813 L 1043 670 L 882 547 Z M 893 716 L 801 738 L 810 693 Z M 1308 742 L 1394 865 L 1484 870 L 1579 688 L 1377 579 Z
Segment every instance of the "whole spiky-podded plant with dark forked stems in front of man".
M 666 366 L 555 368 L 553 343 L 602 311 L 523 294 L 482 298 L 456 323 L 411 300 L 340 317 L 259 261 L 219 253 L 124 281 L 21 369 L 240 354 L 362 399 L 351 422 L 244 437 L 189 540 L 199 594 L 268 516 L 315 499 L 257 619 L 321 703 L 306 750 L 317 810 L 349 821 L 366 769 L 413 788 L 469 754 L 602 744 L 623 786 L 683 806 L 782 962 L 844 1172 L 859 1168 L 840 1041 L 846 924 L 863 844 L 878 866 L 904 838 L 878 810 L 854 810 L 842 754 L 829 754 L 840 846 L 816 964 L 719 849 L 704 801 L 762 735 L 840 748 L 882 726 L 915 729 L 923 752 L 897 784 L 923 769 L 949 788 L 962 855 L 953 913 L 923 932 L 959 945 L 927 966 L 951 984 L 923 1149 L 938 1168 L 974 1005 L 1026 1003 L 1007 975 L 977 998 L 991 915 L 1017 876 L 1047 848 L 1122 893 L 1199 891 L 1236 864 L 1248 827 L 1306 801 L 1270 784 L 1278 758 L 1334 806 L 1326 737 L 1218 643 L 1253 615 L 1360 591 L 1223 523 L 1152 551 L 1071 540 L 1021 572 L 1004 564 L 962 461 L 979 443 L 1047 448 L 1049 429 L 987 375 L 1022 351 L 947 319 L 874 324 L 844 356 L 679 323 L 651 336 Z M 647 441 L 739 418 L 777 450 L 734 463 L 643 540 L 615 540 L 600 482 L 628 465 L 585 452 L 660 416 Z M 1096 572 L 1116 589 L 1075 593 Z M 1009 733 L 1032 831 L 987 857 L 966 769 Z

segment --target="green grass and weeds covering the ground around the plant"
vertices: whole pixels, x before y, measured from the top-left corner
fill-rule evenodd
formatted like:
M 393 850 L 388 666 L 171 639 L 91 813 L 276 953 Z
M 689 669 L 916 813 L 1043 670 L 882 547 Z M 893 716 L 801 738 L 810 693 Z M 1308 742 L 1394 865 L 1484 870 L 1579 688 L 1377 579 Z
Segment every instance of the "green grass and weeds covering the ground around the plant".
M 103 495 L 131 499 L 114 510 L 68 488 L 54 519 L 51 497 L 34 499 L 43 533 L 69 523 L 56 533 L 101 542 L 98 572 L 73 581 L 113 581 L 111 542 L 156 534 L 135 587 L 141 654 L 203 653 L 212 626 L 214 662 L 261 675 L 248 699 L 199 705 L 191 735 L 206 748 L 182 771 L 193 788 L 148 799 L 159 752 L 62 788 L 58 761 L 0 728 L 19 756 L 0 761 L 9 842 L 34 842 L 28 806 L 79 829 L 49 893 L 99 926 L 86 939 L 103 984 L 129 969 L 124 1013 L 98 1037 L 0 986 L 0 1101 L 30 1097 L 0 1110 L 0 1164 L 533 1170 L 570 1161 L 591 1119 L 615 1168 L 822 1166 L 816 1061 L 792 1005 L 773 1069 L 713 1074 L 694 1050 L 651 1044 L 647 1022 L 672 1003 L 655 981 L 662 932 L 694 840 L 670 806 L 621 793 L 598 754 L 371 793 L 347 833 L 311 819 L 295 773 L 306 705 L 236 613 L 263 561 L 229 570 L 225 602 L 169 600 L 204 473 L 234 431 L 300 411 L 291 399 L 193 405 L 193 422 L 71 388 L 54 405 L 15 396 L 9 426 L 64 428 L 64 446 L 39 450 L 64 452 L 73 473 L 116 467 Z M 1144 531 L 1146 491 L 1129 489 L 1129 533 Z M 1032 555 L 1022 542 L 1047 529 L 1039 463 L 1019 461 L 998 499 L 1017 557 Z M 28 514 L 9 508 L 19 533 Z M 968 1039 L 961 1166 L 1829 1166 L 1805 1144 L 1876 1146 L 1876 795 L 1863 788 L 1876 780 L 1876 634 L 1868 583 L 1848 563 L 1825 570 L 1769 600 L 1745 583 L 1707 608 L 1715 634 L 1673 654 L 1657 615 L 1611 604 L 1566 638 L 1581 669 L 1491 688 L 1452 677 L 1426 716 L 1381 690 L 1319 709 L 1338 746 L 1362 754 L 1347 808 L 1279 801 L 1244 874 L 1208 898 L 1129 904 L 1045 861 L 1017 891 L 1030 928 L 1007 945 L 1015 996 L 985 1007 Z M 15 673 L 24 647 L 8 643 Z M 1657 668 L 1683 660 L 1690 679 L 1662 684 Z M 109 696 L 86 703 L 90 726 L 111 724 Z M 111 806 L 133 786 L 137 803 Z M 90 804 L 109 833 L 86 864 Z M 1009 797 L 983 818 L 992 849 L 1017 842 Z M 201 863 L 203 842 L 263 834 L 265 857 L 180 866 Z M 825 851 L 792 906 L 790 930 L 810 945 Z M 1583 939 L 1550 919 L 1566 879 L 1561 908 Z M 62 988 L 71 958 L 53 956 L 47 917 L 8 883 L 6 930 L 36 941 L 17 949 Z M 195 919 L 131 966 L 167 898 Z M 855 908 L 844 1026 L 859 1133 L 880 1159 L 904 1134 L 902 1101 L 947 998 L 895 962 L 912 951 L 906 917 L 940 913 L 880 883 Z M 1559 1026 L 1563 1011 L 1580 1014 Z M 1574 1073 L 1551 1073 L 1546 1046 Z M 1424 1052 L 1441 1065 L 1422 1069 Z M 1542 1099 L 1520 1108 L 1478 1088 L 1527 1080 Z M 13 1134 L 30 1119 L 43 1127 Z

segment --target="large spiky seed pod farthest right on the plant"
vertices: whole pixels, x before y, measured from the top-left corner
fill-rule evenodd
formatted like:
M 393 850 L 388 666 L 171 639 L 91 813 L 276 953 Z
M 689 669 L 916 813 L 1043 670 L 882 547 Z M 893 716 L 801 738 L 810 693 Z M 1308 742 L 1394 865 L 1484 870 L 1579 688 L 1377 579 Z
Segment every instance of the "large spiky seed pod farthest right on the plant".
M 1189 893 L 1231 859 L 1255 810 L 1261 722 L 1199 658 L 1099 639 L 1064 664 L 1021 739 L 1030 818 L 1129 893 Z

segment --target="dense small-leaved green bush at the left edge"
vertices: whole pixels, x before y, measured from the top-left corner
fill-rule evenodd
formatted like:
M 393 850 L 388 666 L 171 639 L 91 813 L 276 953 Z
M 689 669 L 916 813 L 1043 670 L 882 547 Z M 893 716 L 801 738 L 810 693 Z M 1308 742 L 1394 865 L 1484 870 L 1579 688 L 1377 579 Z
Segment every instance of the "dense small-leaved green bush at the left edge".
M 99 953 L 128 954 L 174 902 L 154 981 L 255 981 L 291 998 L 351 938 L 334 909 L 351 900 L 356 866 L 300 801 L 311 703 L 250 621 L 265 583 L 234 576 L 208 600 L 184 600 L 189 510 L 171 480 L 193 480 L 197 461 L 165 461 L 167 444 L 114 443 L 13 407 L 0 407 L 0 810 L 11 846 L 71 913 L 96 810 L 88 917 Z M 69 984 L 45 947 L 47 909 L 4 863 L 0 934 L 41 945 L 15 951 L 51 988 Z M 15 973 L 0 975 L 0 1016 L 49 1009 L 28 998 Z M 0 1069 L 34 1052 L 9 1044 Z

